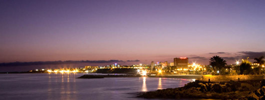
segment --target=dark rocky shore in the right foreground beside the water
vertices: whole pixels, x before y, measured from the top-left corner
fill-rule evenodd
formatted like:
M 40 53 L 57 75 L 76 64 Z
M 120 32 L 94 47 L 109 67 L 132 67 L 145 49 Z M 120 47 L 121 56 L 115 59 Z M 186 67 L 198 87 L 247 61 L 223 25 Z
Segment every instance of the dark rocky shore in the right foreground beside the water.
M 203 82 L 193 81 L 183 87 L 142 92 L 144 98 L 212 98 L 212 99 L 261 99 L 264 95 L 264 80 Z M 258 89 L 259 88 L 259 89 Z M 263 88 L 263 89 L 262 89 Z M 260 91 L 261 90 L 261 91 Z M 259 91 L 260 93 L 258 93 Z

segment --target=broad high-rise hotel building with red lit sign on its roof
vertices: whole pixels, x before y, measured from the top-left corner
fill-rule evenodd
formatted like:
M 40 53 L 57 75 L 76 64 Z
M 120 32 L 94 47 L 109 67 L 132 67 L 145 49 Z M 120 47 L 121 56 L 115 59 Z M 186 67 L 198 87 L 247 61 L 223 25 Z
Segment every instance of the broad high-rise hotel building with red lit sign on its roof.
M 175 57 L 174 58 L 174 66 L 176 67 L 187 67 L 188 58 L 187 57 Z

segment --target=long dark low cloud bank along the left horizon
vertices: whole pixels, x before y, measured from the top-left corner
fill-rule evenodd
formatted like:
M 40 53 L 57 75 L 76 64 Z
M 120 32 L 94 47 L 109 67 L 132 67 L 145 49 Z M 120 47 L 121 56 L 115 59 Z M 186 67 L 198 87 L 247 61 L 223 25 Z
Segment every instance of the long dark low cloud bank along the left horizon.
M 140 60 L 127 60 L 127 61 L 140 61 Z M 113 63 L 113 62 L 125 62 L 123 60 L 65 60 L 65 61 L 34 61 L 34 62 L 8 62 L 0 63 L 0 66 L 25 66 L 25 65 L 44 65 L 44 64 L 73 64 L 73 63 Z

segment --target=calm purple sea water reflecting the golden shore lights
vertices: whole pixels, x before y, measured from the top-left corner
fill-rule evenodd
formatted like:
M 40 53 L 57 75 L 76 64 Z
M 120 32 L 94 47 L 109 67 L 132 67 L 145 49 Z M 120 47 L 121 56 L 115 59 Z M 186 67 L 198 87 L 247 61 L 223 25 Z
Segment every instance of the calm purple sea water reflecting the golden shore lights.
M 113 77 L 79 79 L 86 73 L 0 74 L 0 99 L 143 99 L 138 92 L 184 86 L 195 79 Z

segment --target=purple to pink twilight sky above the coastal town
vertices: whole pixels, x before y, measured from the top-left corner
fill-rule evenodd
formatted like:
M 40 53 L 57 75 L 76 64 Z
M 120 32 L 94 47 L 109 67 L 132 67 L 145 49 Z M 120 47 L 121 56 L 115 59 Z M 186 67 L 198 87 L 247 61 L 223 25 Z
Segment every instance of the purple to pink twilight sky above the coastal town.
M 0 62 L 265 55 L 265 0 L 0 0 Z M 135 62 L 136 63 L 136 62 Z

